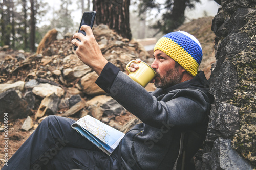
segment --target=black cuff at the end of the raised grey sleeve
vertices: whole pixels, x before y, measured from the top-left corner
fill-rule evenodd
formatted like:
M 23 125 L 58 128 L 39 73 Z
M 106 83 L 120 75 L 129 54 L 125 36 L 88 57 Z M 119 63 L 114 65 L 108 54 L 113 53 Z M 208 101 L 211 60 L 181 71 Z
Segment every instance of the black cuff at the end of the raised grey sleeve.
M 102 88 L 106 93 L 109 93 L 110 87 L 114 82 L 120 69 L 113 65 L 111 62 L 108 62 L 103 70 L 101 71 L 96 84 Z

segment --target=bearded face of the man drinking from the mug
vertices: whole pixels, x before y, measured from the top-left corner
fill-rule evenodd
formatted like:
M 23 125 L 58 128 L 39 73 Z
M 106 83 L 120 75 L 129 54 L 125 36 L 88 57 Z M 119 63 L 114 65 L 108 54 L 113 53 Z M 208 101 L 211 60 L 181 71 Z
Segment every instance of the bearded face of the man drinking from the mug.
M 181 66 L 167 56 L 164 52 L 156 50 L 153 54 L 154 62 L 151 67 L 156 71 L 152 82 L 157 88 L 168 88 L 181 81 Z

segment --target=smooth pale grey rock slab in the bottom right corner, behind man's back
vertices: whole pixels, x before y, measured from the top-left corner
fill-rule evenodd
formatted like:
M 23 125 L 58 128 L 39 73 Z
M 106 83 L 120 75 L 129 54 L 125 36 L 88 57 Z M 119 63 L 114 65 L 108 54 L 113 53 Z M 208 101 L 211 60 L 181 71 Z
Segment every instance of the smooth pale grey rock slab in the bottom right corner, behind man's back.
M 231 148 L 231 140 L 219 138 L 211 151 L 212 169 L 248 169 L 252 167 Z

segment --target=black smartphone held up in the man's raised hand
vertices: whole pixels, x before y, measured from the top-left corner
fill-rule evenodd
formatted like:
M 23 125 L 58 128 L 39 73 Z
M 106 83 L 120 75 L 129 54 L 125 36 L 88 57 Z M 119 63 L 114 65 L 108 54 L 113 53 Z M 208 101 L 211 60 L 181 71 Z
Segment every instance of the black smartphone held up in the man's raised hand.
M 82 33 L 83 35 L 86 35 L 86 32 L 83 30 L 80 30 L 80 28 L 82 27 L 82 25 L 88 25 L 91 28 L 93 28 L 95 17 L 96 17 L 96 11 L 84 12 L 82 15 L 82 20 L 78 29 L 78 33 Z M 80 41 L 79 39 L 77 40 Z M 76 50 L 76 48 L 77 46 L 74 45 L 74 50 Z

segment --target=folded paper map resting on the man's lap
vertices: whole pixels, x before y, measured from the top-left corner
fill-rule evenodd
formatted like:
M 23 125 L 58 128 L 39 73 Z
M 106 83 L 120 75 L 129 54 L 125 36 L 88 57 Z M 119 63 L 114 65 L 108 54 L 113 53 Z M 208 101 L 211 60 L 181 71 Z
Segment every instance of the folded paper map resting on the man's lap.
M 72 128 L 108 155 L 115 150 L 124 136 L 124 133 L 100 122 L 90 115 L 77 120 L 77 122 L 72 124 Z

